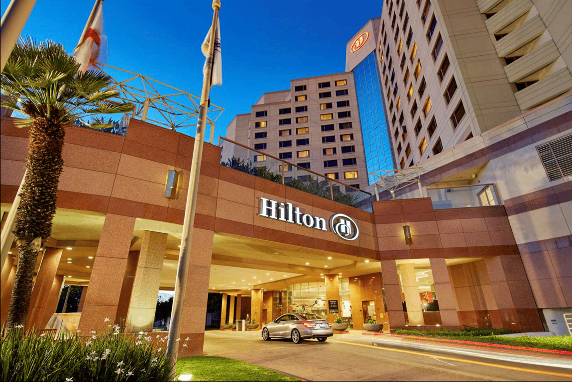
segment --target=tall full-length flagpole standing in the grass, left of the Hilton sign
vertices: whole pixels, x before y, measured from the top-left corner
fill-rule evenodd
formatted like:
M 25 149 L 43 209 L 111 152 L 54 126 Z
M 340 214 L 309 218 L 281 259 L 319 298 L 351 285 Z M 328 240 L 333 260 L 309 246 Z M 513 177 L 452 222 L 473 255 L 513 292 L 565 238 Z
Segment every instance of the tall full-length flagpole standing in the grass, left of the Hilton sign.
M 185 300 L 186 279 L 189 269 L 190 249 L 193 241 L 194 214 L 197 206 L 198 177 L 201 170 L 202 146 L 206 127 L 206 112 L 209 104 L 210 73 L 212 73 L 213 54 L 215 51 L 215 38 L 217 23 L 219 22 L 220 0 L 213 0 L 213 21 L 210 29 L 209 53 L 206 57 L 206 67 L 202 75 L 201 103 L 198 109 L 197 133 L 194 136 L 193 161 L 189 175 L 189 190 L 186 196 L 185 218 L 182 225 L 181 249 L 177 264 L 177 278 L 171 310 L 171 324 L 169 328 L 169 341 L 167 355 L 175 367 L 178 357 L 178 339 L 181 335 L 182 309 Z M 220 57 L 219 57 L 220 59 Z

